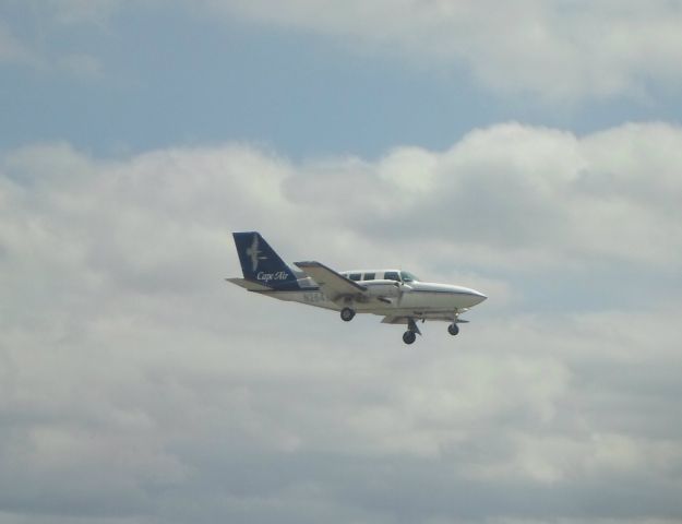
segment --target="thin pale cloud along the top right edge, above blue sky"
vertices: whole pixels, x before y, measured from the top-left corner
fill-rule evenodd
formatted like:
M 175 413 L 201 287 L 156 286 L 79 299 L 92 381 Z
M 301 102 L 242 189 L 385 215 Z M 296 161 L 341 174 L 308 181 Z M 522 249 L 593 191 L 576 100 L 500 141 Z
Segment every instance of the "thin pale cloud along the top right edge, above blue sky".
M 642 97 L 680 86 L 680 2 L 524 0 L 267 1 L 206 4 L 266 25 L 333 37 L 435 70 L 466 68 L 486 88 L 551 103 Z

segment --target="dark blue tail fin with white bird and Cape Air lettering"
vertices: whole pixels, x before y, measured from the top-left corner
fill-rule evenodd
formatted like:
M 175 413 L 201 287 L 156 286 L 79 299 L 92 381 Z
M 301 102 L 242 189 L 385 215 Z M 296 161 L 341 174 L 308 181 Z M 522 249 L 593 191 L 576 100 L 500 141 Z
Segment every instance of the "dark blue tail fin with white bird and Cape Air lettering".
M 244 278 L 273 289 L 298 288 L 296 275 L 258 231 L 232 233 Z

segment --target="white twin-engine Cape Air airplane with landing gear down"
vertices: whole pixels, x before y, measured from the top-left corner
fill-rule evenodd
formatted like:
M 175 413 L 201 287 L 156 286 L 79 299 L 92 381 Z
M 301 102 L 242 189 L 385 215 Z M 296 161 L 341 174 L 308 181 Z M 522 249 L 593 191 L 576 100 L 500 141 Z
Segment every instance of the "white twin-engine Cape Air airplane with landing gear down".
M 356 313 L 383 315 L 386 324 L 407 324 L 405 344 L 421 334 L 417 321 L 450 322 L 451 335 L 459 333 L 459 314 L 486 300 L 467 287 L 421 282 L 399 270 L 359 270 L 340 273 L 320 262 L 295 262 L 294 271 L 256 231 L 234 233 L 243 278 L 226 278 L 267 297 L 340 311 L 346 322 Z

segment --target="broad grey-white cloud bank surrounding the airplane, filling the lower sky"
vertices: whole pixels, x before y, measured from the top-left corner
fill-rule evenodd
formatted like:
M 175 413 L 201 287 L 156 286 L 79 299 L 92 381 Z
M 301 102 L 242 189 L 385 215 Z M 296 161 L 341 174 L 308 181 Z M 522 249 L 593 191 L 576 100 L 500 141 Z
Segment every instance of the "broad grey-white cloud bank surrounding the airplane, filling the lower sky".
M 673 521 L 681 141 L 506 123 L 376 160 L 5 152 L 0 522 Z M 491 298 L 407 347 L 225 284 L 251 228 Z

